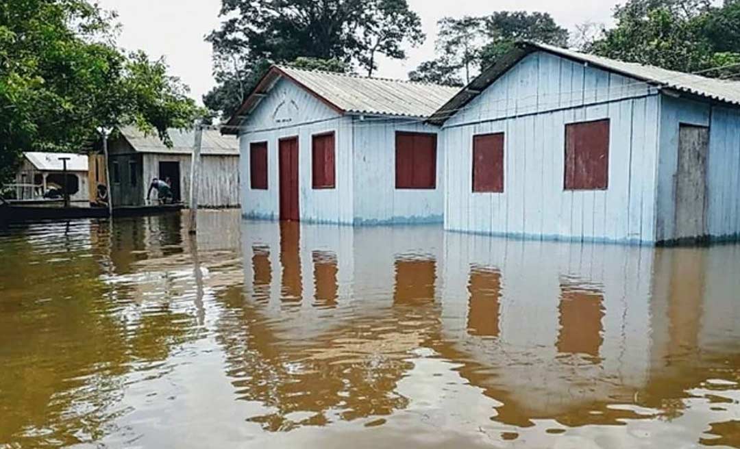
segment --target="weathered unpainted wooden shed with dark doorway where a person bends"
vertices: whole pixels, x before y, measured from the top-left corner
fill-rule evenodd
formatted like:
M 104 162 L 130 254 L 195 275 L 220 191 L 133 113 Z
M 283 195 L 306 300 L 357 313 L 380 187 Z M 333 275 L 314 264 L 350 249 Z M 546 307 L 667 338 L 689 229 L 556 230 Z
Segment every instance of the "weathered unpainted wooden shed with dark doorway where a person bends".
M 172 147 L 155 134 L 124 127 L 108 143 L 113 206 L 144 206 L 152 178 L 169 180 L 175 201 L 187 202 L 190 189 L 191 130 L 170 129 Z M 239 206 L 239 149 L 229 135 L 203 131 L 201 182 L 198 206 L 228 208 Z M 156 194 L 153 198 L 156 197 Z

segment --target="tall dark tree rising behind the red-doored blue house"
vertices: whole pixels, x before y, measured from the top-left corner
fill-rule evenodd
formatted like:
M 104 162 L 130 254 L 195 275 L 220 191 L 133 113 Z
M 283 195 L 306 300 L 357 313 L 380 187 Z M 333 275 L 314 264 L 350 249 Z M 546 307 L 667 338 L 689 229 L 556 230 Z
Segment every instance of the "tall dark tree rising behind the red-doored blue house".
M 377 56 L 406 58 L 404 44 L 424 40 L 406 0 L 222 0 L 221 28 L 207 38 L 217 86 L 203 98 L 228 117 L 271 63 L 298 58 L 372 75 Z M 308 59 L 306 59 L 308 58 Z M 334 61 L 332 63 L 332 61 Z

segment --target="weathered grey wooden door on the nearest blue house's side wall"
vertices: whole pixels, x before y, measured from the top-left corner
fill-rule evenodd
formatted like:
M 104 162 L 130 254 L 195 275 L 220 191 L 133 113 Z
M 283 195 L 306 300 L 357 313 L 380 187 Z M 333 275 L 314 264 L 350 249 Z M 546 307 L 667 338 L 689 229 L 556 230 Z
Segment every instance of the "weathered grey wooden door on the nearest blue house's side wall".
M 707 153 L 709 128 L 679 125 L 676 171 L 676 239 L 700 240 L 707 235 Z

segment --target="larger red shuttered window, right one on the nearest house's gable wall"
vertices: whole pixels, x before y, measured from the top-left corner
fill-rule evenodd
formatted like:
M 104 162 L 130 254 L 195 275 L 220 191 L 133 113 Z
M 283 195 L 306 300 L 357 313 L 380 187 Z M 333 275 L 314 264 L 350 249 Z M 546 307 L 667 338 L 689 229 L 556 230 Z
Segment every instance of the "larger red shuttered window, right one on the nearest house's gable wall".
M 565 125 L 565 190 L 609 184 L 609 120 Z

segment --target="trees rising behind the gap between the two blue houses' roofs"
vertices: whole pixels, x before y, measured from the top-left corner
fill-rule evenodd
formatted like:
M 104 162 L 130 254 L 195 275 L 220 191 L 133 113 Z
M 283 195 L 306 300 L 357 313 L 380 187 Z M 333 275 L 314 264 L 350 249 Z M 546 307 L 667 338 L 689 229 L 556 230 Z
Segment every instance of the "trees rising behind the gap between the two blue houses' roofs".
M 437 57 L 408 74 L 414 81 L 452 86 L 468 83 L 482 67 L 493 64 L 522 39 L 559 47 L 568 44 L 568 30 L 548 13 L 497 11 L 483 17 L 445 17 L 437 26 Z

